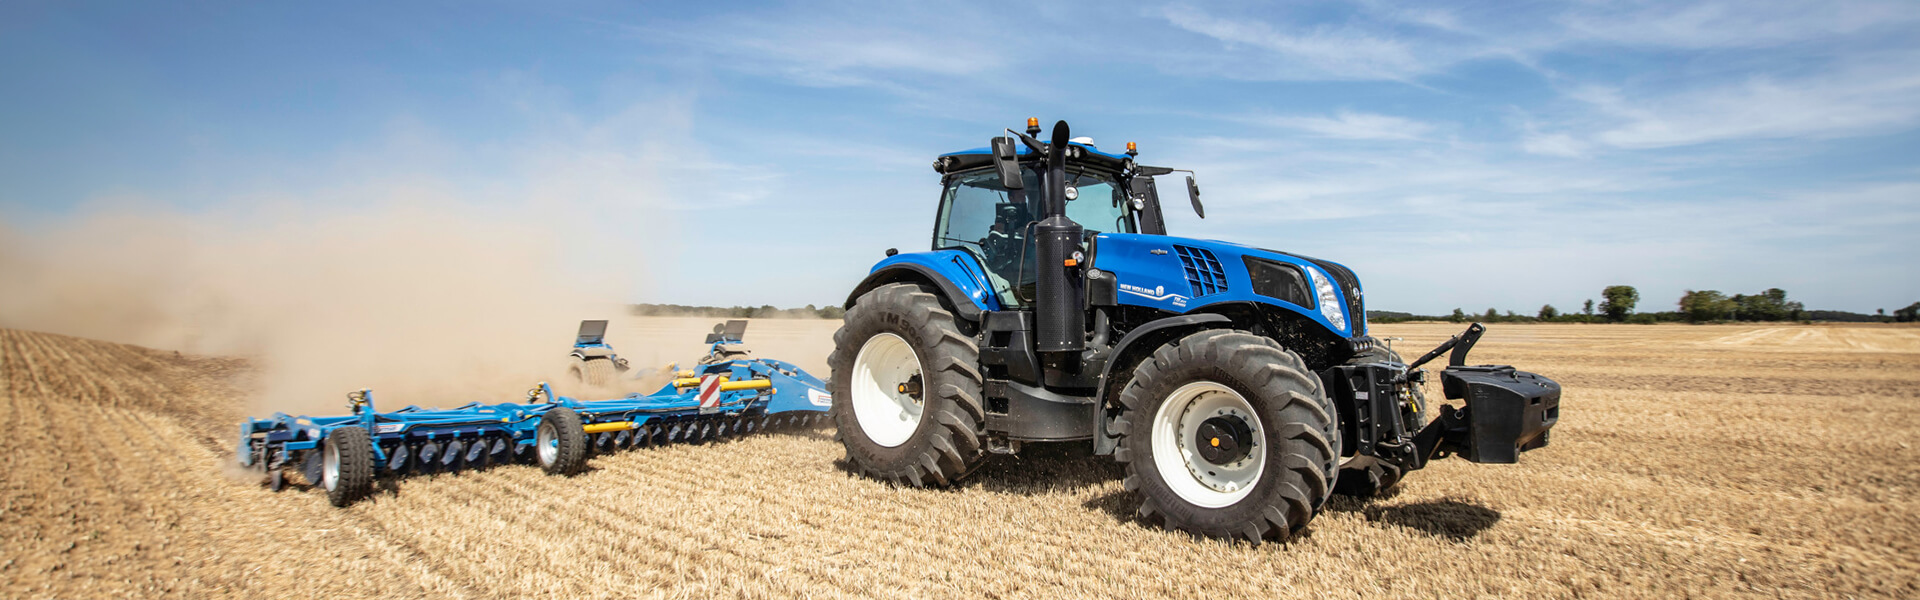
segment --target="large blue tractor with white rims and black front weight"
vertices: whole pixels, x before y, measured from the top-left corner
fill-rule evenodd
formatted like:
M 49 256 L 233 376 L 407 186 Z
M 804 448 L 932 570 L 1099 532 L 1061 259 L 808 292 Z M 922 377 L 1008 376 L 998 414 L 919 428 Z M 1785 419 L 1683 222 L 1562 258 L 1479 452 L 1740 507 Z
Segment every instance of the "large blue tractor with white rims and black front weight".
M 933 162 L 931 252 L 847 296 L 829 392 L 852 469 L 948 487 L 1021 442 L 1125 463 L 1139 515 L 1202 537 L 1283 540 L 1332 492 L 1373 496 L 1446 456 L 1511 463 L 1548 442 L 1559 385 L 1467 365 L 1478 323 L 1415 362 L 1367 335 L 1340 263 L 1169 237 L 1179 173 L 1008 129 Z M 1187 192 L 1204 215 L 1187 171 Z M 1423 363 L 1452 350 L 1427 421 Z

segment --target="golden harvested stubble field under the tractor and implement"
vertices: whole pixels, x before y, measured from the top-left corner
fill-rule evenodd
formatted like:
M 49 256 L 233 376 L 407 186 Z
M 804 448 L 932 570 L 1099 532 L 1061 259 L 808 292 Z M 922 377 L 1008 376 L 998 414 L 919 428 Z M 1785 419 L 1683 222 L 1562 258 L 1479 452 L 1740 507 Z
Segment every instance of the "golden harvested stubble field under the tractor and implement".
M 691 360 L 714 321 L 611 340 Z M 755 321 L 747 342 L 826 375 L 835 327 Z M 1455 329 L 1375 335 L 1415 354 Z M 1475 358 L 1567 387 L 1551 446 L 1440 462 L 1248 546 L 1140 527 L 1077 448 L 912 490 L 849 477 L 829 429 L 572 479 L 415 477 L 334 510 L 228 467 L 244 362 L 0 331 L 0 596 L 1920 594 L 1920 329 L 1496 325 Z

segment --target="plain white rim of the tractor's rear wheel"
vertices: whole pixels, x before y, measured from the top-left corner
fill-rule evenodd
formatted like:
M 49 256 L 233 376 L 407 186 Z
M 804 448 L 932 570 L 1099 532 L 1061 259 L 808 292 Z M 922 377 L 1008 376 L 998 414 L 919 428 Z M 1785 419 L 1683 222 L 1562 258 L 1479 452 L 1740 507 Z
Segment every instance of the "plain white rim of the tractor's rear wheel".
M 860 354 L 852 360 L 851 388 L 852 415 L 860 421 L 860 431 L 876 444 L 893 448 L 920 431 L 920 415 L 925 413 L 925 377 L 920 377 L 922 392 L 916 400 L 900 392 L 900 387 L 920 375 L 920 354 L 899 335 L 881 333 L 866 338 Z

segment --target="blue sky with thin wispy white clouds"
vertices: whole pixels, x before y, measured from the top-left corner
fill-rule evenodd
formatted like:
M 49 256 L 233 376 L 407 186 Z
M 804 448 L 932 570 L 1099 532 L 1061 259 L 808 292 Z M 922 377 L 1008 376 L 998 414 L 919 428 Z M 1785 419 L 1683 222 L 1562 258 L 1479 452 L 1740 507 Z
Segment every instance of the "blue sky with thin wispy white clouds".
M 1031 115 L 1196 169 L 1177 235 L 1344 262 L 1377 310 L 1891 312 L 1914 31 L 1914 2 L 8 2 L 0 217 L 430 188 L 616 240 L 580 269 L 630 300 L 839 304 L 927 246 L 933 156 Z

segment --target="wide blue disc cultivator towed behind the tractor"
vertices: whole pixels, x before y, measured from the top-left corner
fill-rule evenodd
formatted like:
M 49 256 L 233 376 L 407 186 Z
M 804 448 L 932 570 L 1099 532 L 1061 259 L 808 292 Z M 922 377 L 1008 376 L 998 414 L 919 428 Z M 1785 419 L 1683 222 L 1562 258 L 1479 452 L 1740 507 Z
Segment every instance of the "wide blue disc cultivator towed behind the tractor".
M 747 321 L 714 327 L 708 356 L 676 371 L 653 394 L 576 400 L 541 383 L 522 404 L 378 412 L 372 392 L 359 390 L 348 394 L 351 415 L 248 419 L 236 452 L 242 465 L 265 471 L 275 490 L 284 487 L 288 467 L 298 465 L 334 506 L 348 506 L 372 492 L 376 475 L 484 469 L 516 460 L 572 475 L 593 452 L 822 423 L 831 406 L 826 383 L 793 363 L 749 358 L 737 348 L 745 329 Z

